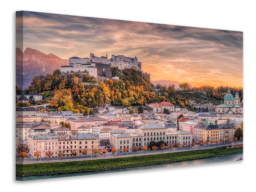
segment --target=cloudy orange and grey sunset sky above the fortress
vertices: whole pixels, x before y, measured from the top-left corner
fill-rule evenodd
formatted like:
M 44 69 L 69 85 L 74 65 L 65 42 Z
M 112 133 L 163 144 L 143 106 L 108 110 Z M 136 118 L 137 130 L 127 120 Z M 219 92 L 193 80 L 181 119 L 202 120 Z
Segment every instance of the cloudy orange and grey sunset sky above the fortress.
M 243 32 L 40 12 L 16 16 L 22 51 L 30 47 L 61 59 L 90 52 L 137 56 L 151 80 L 243 87 Z

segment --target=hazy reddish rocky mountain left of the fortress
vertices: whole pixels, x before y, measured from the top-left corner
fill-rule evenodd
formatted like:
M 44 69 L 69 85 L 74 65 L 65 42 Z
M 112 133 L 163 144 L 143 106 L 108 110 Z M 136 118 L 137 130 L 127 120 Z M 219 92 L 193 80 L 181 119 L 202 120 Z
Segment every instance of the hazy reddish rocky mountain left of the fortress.
M 52 53 L 47 55 L 31 48 L 26 48 L 22 53 L 16 47 L 16 85 L 28 87 L 35 76 L 52 74 L 53 70 L 63 65 L 68 65 L 68 60 L 60 59 Z

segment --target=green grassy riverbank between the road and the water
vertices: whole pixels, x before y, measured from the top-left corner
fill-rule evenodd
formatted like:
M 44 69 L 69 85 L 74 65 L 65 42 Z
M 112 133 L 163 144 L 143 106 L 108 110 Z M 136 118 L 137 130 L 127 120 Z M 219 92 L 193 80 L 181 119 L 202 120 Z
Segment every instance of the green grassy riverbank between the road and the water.
M 205 149 L 155 155 L 95 159 L 42 164 L 16 164 L 16 176 L 94 172 L 154 164 L 165 164 L 242 153 L 243 148 Z

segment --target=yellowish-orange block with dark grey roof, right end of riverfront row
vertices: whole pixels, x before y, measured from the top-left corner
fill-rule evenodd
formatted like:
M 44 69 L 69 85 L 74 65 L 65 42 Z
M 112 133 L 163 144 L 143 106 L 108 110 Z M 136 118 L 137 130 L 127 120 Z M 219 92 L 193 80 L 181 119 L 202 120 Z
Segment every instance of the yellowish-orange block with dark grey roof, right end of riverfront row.
M 198 124 L 195 126 L 195 142 L 207 143 L 229 142 L 234 139 L 232 124 Z

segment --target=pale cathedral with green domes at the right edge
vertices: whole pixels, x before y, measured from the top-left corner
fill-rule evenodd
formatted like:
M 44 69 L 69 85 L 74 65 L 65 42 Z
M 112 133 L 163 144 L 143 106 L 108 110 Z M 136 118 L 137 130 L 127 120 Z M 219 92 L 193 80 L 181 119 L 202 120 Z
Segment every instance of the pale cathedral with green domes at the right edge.
M 221 101 L 221 104 L 216 106 L 215 112 L 217 113 L 240 113 L 242 107 L 240 106 L 240 99 L 238 90 L 236 90 L 235 99 L 228 89 L 228 93 L 224 97 L 224 101 Z

